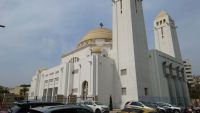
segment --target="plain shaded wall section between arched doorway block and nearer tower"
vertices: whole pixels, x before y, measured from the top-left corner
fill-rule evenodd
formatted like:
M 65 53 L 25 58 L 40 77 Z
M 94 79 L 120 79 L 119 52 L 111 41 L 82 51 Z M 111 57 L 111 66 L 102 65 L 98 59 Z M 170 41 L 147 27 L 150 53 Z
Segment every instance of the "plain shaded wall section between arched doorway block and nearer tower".
M 109 106 L 110 96 L 114 93 L 114 61 L 108 57 L 98 55 L 96 57 L 96 66 L 98 66 L 98 99 Z M 114 99 L 114 98 L 113 98 Z M 113 100 L 113 104 L 115 100 Z

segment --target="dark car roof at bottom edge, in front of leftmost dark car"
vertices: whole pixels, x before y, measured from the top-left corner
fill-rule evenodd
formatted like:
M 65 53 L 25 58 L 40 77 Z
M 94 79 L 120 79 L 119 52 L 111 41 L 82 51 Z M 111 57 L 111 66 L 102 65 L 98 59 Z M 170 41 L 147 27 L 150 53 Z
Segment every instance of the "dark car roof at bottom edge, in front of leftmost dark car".
M 28 113 L 94 113 L 92 109 L 80 105 L 59 105 L 31 108 Z

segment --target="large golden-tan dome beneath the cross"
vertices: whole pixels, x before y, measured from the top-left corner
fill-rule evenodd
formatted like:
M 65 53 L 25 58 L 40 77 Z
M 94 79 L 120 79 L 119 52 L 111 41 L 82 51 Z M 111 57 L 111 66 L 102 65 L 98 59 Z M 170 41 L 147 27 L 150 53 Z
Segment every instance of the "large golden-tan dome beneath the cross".
M 112 40 L 112 31 L 107 28 L 97 28 L 89 31 L 80 41 L 78 47 L 85 46 L 96 39 Z

